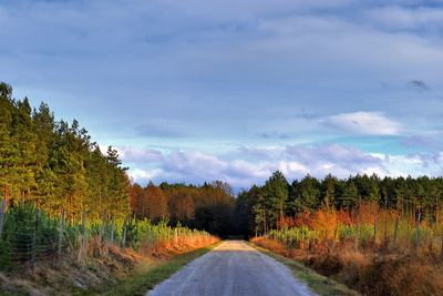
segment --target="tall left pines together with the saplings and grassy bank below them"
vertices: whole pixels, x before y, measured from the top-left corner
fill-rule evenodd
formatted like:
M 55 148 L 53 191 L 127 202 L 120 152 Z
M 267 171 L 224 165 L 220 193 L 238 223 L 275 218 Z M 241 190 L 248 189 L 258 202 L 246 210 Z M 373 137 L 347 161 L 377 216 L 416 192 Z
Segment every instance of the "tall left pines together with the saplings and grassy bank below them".
M 216 186 L 200 188 L 203 206 Z M 0 294 L 100 292 L 219 241 L 153 207 L 134 212 L 138 187 L 115 149 L 103 153 L 78 121 L 0 83 Z

